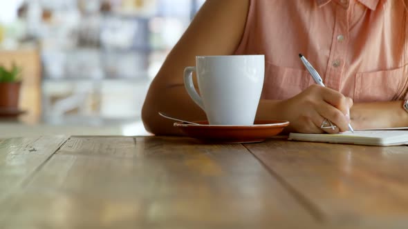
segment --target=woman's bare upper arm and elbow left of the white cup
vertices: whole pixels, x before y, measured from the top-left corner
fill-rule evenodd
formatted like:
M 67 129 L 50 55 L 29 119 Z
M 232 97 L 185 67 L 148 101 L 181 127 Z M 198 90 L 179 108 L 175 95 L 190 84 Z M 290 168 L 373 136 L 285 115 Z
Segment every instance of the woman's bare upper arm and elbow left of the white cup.
M 205 119 L 205 113 L 189 98 L 184 88 L 183 70 L 195 66 L 198 55 L 233 54 L 241 41 L 249 0 L 207 0 L 183 37 L 171 50 L 151 83 L 142 119 L 156 135 L 178 135 L 172 121 L 159 111 L 186 120 Z

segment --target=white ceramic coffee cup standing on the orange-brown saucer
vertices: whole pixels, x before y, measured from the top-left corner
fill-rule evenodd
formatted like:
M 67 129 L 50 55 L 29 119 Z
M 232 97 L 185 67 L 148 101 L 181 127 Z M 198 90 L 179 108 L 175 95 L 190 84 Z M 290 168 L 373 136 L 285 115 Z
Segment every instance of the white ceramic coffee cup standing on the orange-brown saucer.
M 196 67 L 185 68 L 184 83 L 210 125 L 248 126 L 254 123 L 264 75 L 264 55 L 198 56 Z

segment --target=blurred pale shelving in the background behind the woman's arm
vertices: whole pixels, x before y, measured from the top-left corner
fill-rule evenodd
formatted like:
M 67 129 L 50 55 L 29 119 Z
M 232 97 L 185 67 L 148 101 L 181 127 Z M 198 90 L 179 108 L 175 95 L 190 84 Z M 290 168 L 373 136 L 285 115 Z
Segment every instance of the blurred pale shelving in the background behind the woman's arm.
M 33 24 L 42 47 L 43 122 L 109 126 L 140 120 L 151 80 L 205 0 L 147 0 L 133 10 L 113 4 L 111 12 L 97 6 L 100 0 L 70 1 L 79 4 Z

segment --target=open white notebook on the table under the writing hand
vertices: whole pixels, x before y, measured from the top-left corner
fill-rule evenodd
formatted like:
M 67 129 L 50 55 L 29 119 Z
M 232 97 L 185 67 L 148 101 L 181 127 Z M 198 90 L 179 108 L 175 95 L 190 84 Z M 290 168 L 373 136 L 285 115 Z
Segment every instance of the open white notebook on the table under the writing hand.
M 408 145 L 408 130 L 355 130 L 339 134 L 300 134 L 290 133 L 289 140 L 319 141 L 328 143 L 349 143 L 369 146 L 399 146 Z

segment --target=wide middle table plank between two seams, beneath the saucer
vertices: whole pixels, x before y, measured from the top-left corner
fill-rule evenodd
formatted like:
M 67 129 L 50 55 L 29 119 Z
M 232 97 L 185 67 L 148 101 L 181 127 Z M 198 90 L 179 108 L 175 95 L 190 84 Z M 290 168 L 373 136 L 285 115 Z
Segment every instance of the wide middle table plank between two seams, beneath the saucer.
M 24 192 L 2 205 L 10 206 L 0 209 L 10 228 L 286 228 L 316 222 L 242 145 L 179 137 L 72 137 Z

